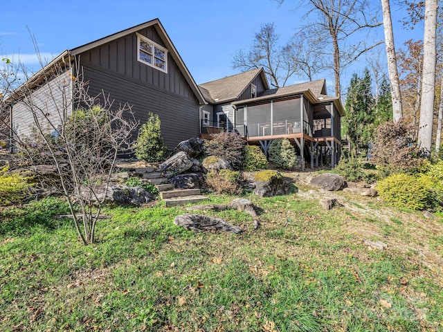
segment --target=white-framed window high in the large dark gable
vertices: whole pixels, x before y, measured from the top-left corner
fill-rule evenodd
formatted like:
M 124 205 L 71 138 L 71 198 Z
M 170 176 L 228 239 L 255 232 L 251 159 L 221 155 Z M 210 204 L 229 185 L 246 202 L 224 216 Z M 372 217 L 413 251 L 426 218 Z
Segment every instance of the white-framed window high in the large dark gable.
M 137 60 L 168 73 L 168 50 L 137 33 Z

